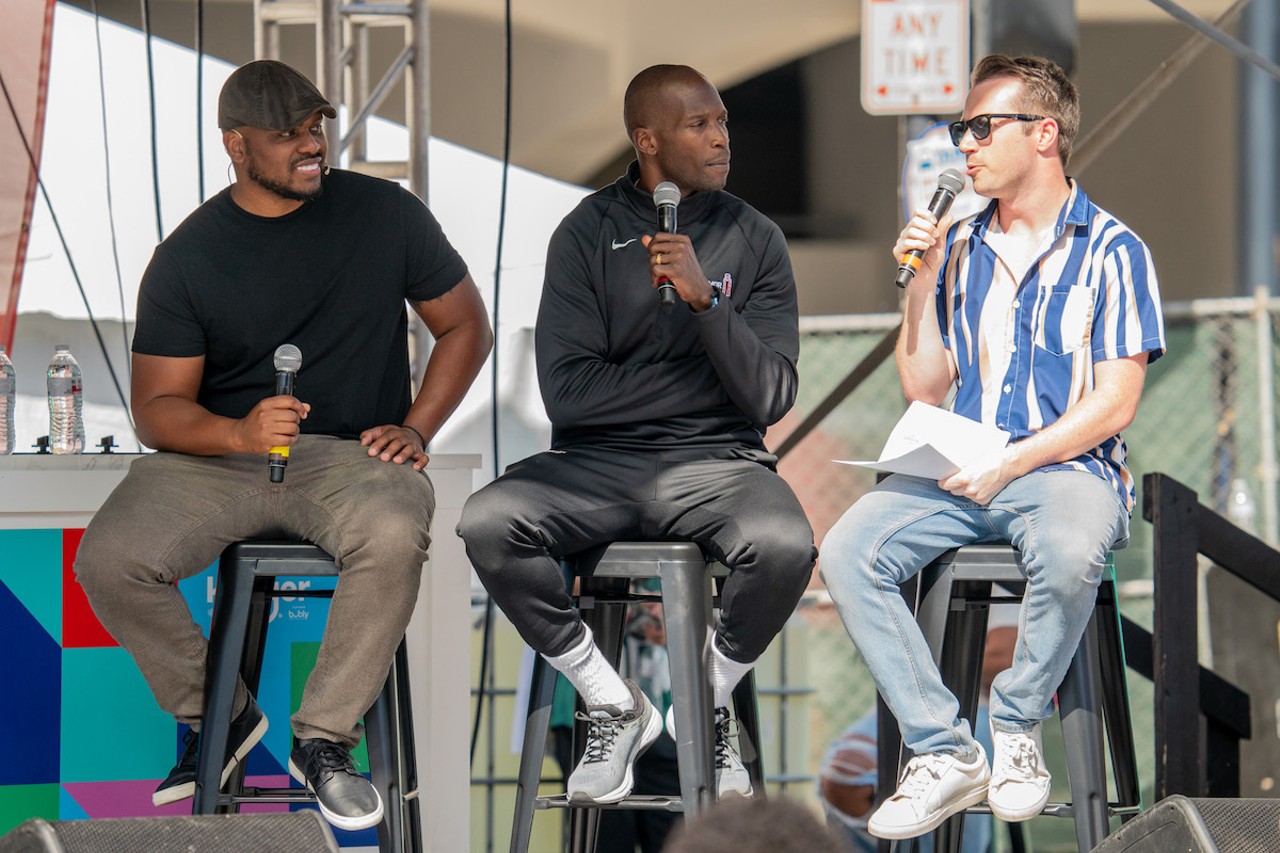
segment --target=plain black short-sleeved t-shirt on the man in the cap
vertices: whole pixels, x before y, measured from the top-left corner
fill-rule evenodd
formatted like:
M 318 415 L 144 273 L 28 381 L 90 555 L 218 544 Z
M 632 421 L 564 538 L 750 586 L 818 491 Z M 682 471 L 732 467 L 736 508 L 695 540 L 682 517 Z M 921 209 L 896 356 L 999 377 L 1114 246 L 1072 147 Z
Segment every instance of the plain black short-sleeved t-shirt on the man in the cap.
M 230 191 L 156 247 L 138 291 L 133 351 L 205 356 L 200 403 L 243 418 L 275 393 L 275 348 L 302 351 L 303 433 L 355 438 L 411 403 L 406 298 L 467 273 L 426 206 L 399 184 L 334 169 L 324 192 L 279 218 Z

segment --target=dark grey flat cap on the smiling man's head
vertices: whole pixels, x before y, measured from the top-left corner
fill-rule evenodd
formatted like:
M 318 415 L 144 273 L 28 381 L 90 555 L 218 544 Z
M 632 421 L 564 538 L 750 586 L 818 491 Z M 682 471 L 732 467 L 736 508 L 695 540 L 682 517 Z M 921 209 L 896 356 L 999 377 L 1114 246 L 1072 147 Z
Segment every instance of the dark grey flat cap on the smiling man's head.
M 218 96 L 218 127 L 229 131 L 244 124 L 264 131 L 288 131 L 315 113 L 338 118 L 315 83 L 274 59 L 241 65 L 223 83 Z

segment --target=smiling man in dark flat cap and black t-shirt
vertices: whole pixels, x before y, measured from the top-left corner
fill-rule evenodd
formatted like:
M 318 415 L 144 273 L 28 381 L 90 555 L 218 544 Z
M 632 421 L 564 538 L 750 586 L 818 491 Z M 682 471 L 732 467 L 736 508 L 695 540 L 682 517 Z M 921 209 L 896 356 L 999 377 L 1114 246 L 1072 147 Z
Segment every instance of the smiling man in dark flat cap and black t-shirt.
M 289 771 L 342 829 L 383 804 L 351 749 L 417 599 L 435 508 L 426 443 L 492 346 L 466 264 L 399 186 L 330 170 L 302 74 L 260 60 L 218 102 L 236 182 L 160 246 L 138 292 L 133 415 L 160 452 L 137 460 L 84 534 L 76 573 L 160 706 L 192 726 L 155 804 L 195 792 L 205 638 L 175 580 L 228 544 L 296 538 L 340 567 L 324 640 L 292 717 Z M 411 392 L 406 300 L 435 338 Z M 297 397 L 273 356 L 302 352 Z M 303 400 L 306 402 L 303 402 Z M 262 456 L 292 450 L 287 482 Z M 266 731 L 239 686 L 223 781 Z

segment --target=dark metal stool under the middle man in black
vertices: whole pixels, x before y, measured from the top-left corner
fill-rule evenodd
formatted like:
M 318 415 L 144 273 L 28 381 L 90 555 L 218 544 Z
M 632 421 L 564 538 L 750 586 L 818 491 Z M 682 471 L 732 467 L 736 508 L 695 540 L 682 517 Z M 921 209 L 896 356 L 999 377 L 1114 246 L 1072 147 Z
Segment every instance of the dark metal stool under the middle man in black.
M 728 574 L 724 566 L 708 561 L 701 548 L 689 542 L 616 542 L 605 548 L 562 561 L 566 583 L 572 588 L 580 578 L 577 606 L 591 628 L 605 657 L 617 666 L 626 606 L 636 601 L 662 601 L 667 624 L 667 653 L 671 662 L 671 695 L 676 717 L 676 758 L 680 770 L 680 795 L 632 794 L 608 806 L 579 806 L 566 794 L 539 797 L 547 731 L 550 725 L 556 670 L 536 656 L 525 721 L 525 744 L 520 756 L 516 784 L 516 813 L 511 831 L 512 853 L 529 849 L 535 808 L 570 809 L 570 849 L 589 853 L 595 849 L 600 809 L 667 809 L 696 815 L 716 798 L 714 736 L 712 733 L 712 694 L 707 681 L 703 647 L 710 624 L 717 579 Z M 631 581 L 657 578 L 660 594 L 634 594 Z M 748 674 L 733 689 L 733 711 L 739 721 L 739 751 L 756 797 L 764 795 L 760 762 L 759 721 L 755 704 L 755 679 Z M 581 731 L 575 736 L 575 752 L 584 748 Z

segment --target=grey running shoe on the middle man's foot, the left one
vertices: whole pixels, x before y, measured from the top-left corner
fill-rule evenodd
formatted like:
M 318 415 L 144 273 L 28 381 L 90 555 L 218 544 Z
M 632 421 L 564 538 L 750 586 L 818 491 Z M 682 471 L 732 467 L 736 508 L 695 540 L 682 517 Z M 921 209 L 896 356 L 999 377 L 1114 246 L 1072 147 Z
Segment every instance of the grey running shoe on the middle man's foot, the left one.
M 636 758 L 658 739 L 662 717 L 636 683 L 623 679 L 634 710 L 598 704 L 579 712 L 586 722 L 586 752 L 568 777 L 572 803 L 616 803 L 631 793 Z

